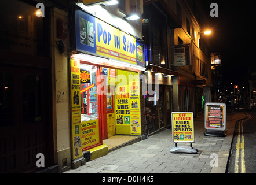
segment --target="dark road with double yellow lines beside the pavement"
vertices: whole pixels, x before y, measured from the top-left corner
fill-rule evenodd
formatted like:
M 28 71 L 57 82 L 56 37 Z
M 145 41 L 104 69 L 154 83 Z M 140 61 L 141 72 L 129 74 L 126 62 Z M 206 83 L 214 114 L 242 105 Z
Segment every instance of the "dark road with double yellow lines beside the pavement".
M 228 173 L 256 172 L 256 111 L 246 111 L 247 119 L 236 123 Z

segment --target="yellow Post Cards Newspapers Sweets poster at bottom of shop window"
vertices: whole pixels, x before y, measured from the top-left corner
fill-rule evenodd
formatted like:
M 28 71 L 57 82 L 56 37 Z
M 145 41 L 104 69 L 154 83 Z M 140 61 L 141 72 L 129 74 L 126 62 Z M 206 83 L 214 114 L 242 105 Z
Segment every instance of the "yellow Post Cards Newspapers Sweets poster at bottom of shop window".
M 82 149 L 100 143 L 100 129 L 98 119 L 83 121 L 81 124 L 82 129 Z

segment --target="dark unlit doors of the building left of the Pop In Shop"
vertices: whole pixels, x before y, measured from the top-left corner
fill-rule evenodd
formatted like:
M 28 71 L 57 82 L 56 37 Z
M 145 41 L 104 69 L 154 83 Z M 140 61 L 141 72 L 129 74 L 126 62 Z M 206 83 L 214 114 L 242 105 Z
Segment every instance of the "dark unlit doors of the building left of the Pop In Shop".
M 43 69 L 0 68 L 0 172 L 36 169 L 36 155 L 49 166 L 49 89 Z

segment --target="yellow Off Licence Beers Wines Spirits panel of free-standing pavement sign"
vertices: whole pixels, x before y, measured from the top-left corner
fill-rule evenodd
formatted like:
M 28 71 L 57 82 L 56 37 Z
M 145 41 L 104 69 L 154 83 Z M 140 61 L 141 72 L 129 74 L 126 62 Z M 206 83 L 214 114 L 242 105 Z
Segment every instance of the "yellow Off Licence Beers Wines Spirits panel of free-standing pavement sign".
M 171 124 L 173 128 L 173 142 L 195 142 L 193 112 L 171 113 Z

